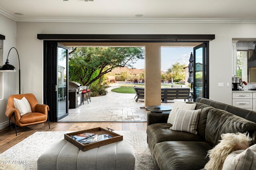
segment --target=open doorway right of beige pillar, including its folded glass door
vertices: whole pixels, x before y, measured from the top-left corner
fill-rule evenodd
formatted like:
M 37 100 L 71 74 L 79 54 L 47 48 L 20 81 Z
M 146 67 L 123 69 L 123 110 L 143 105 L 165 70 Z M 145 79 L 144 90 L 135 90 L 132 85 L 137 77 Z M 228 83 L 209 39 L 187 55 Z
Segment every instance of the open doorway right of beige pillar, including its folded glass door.
M 174 100 L 196 101 L 207 97 L 208 65 L 206 43 L 161 48 L 161 105 Z

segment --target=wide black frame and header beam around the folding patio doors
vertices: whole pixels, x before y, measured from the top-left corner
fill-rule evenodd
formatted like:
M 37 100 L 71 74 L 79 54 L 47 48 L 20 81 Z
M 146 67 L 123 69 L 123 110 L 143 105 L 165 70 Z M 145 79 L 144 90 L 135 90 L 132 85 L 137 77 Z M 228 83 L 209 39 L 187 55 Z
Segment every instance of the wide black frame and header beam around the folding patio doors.
M 62 43 L 62 42 L 147 42 L 147 43 L 188 43 L 188 42 L 200 42 L 206 44 L 206 98 L 209 98 L 209 41 L 215 39 L 215 34 L 38 34 L 39 40 L 44 40 L 44 103 L 49 104 L 49 99 L 46 91 L 49 91 L 49 86 L 46 85 L 45 81 L 49 77 L 45 76 L 46 64 L 49 59 L 46 59 L 46 47 L 47 43 Z M 56 62 L 56 61 L 55 61 Z M 54 70 L 51 70 L 54 71 Z M 56 71 L 56 70 L 55 70 Z M 56 84 L 56 83 L 55 83 Z M 51 87 L 53 88 L 53 87 Z M 55 85 L 54 85 L 55 89 Z M 56 97 L 54 98 L 56 99 Z M 50 107 L 50 105 L 49 105 Z M 51 108 L 51 107 L 50 107 Z M 56 106 L 53 108 L 56 108 Z M 55 110 L 55 109 L 54 109 Z M 52 115 L 52 114 L 50 114 Z M 52 115 L 53 116 L 53 115 Z M 53 118 L 50 121 L 58 121 L 58 118 Z

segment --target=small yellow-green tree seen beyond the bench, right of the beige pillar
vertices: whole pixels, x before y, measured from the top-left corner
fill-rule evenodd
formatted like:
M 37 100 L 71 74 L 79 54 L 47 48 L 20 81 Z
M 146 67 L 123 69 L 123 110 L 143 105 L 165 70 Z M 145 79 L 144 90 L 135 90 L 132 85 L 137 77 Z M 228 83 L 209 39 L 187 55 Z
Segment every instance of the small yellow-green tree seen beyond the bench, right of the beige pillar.
M 180 64 L 179 62 L 176 62 L 167 70 L 167 73 L 172 73 L 174 82 L 185 79 L 185 69 L 183 69 L 183 67 L 186 67 L 186 64 Z

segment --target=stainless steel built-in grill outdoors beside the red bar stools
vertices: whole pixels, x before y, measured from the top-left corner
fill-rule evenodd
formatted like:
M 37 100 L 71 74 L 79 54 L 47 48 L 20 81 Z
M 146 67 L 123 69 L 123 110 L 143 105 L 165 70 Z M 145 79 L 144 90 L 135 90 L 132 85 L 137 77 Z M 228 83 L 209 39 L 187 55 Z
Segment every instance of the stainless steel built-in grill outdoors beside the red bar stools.
M 76 81 L 68 82 L 68 99 L 69 99 L 69 108 L 76 109 L 82 104 L 82 90 L 86 89 L 85 86 L 82 86 Z

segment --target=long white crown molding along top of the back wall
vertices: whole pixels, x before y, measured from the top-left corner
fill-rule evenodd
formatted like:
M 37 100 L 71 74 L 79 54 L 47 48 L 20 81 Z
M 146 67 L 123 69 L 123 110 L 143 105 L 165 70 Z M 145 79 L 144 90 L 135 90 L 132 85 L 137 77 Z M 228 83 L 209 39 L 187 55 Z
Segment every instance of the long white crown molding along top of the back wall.
M 230 18 L 159 18 L 159 19 L 118 19 L 118 18 L 18 18 L 17 22 L 85 22 L 85 23 L 256 23 L 256 19 Z

